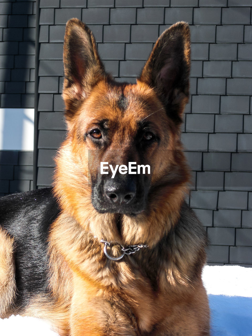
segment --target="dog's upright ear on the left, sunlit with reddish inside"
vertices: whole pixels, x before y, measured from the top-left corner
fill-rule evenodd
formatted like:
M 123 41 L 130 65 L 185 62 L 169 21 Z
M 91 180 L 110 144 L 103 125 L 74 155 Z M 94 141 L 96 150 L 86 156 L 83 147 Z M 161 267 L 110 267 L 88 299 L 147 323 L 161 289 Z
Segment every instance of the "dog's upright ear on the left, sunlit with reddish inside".
M 90 29 L 77 18 L 67 22 L 64 39 L 64 88 L 66 119 L 75 114 L 92 87 L 106 77 Z

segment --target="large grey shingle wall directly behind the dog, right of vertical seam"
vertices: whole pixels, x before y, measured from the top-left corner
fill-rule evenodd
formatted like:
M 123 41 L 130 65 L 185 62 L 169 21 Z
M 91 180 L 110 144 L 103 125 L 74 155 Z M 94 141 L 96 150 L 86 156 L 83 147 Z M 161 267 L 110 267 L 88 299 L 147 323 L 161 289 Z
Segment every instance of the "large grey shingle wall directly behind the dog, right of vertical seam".
M 65 136 L 67 19 L 84 20 L 106 69 L 130 82 L 158 36 L 185 20 L 192 39 L 192 98 L 182 127 L 193 169 L 188 201 L 211 240 L 209 262 L 252 265 L 251 6 L 251 0 L 40 0 L 38 187 L 51 183 L 52 156 Z

